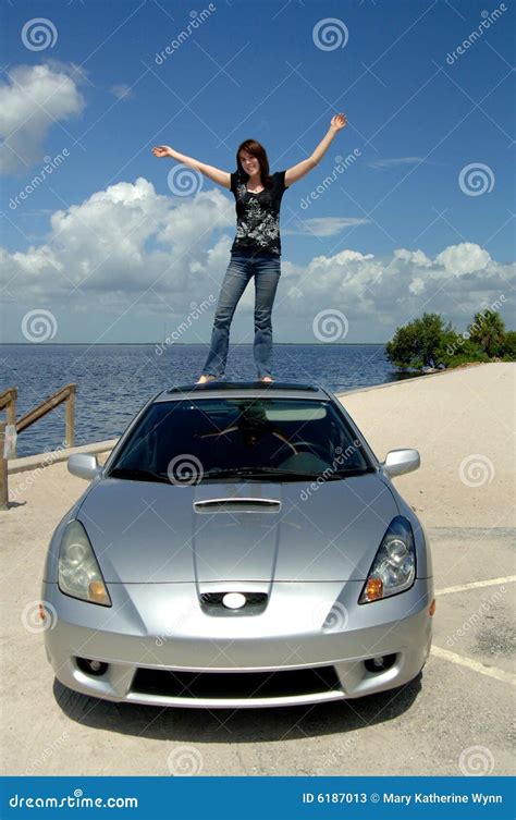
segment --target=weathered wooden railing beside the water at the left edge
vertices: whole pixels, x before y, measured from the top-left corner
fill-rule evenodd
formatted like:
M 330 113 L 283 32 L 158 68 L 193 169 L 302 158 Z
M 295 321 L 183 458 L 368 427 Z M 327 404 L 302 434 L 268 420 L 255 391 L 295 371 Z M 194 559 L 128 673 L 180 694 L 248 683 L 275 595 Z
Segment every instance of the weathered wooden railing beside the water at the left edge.
M 16 421 L 16 400 L 17 388 L 8 388 L 4 393 L 0 394 L 0 411 L 5 411 L 5 421 L 0 421 L 0 510 L 9 510 L 9 486 L 8 486 L 8 460 L 16 457 L 16 438 L 17 433 L 26 430 L 35 421 L 50 413 L 63 402 L 66 403 L 64 416 L 64 445 L 73 446 L 75 441 L 74 414 L 75 414 L 75 393 L 76 384 L 66 384 L 60 388 L 56 393 L 46 399 L 44 402 L 34 407 Z M 7 429 L 9 428 L 9 429 Z M 14 442 L 11 443 L 9 454 L 5 454 L 5 439 Z

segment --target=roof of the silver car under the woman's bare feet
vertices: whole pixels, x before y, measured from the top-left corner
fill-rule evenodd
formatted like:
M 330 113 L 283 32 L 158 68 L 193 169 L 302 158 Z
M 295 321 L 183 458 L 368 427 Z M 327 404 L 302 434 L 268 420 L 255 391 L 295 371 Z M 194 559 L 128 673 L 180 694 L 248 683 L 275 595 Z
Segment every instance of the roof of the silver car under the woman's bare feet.
M 159 393 L 155 402 L 188 399 L 311 399 L 332 400 L 330 393 L 318 384 L 300 384 L 290 381 L 208 381 L 205 384 L 173 384 Z

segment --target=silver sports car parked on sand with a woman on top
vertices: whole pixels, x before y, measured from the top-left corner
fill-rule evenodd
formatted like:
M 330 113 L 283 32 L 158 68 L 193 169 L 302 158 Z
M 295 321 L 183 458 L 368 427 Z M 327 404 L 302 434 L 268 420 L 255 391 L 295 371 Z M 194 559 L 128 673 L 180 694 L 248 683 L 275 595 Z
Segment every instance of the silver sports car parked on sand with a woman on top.
M 160 391 L 58 525 L 42 584 L 58 680 L 114 701 L 237 708 L 358 698 L 428 657 L 428 538 L 322 387 Z

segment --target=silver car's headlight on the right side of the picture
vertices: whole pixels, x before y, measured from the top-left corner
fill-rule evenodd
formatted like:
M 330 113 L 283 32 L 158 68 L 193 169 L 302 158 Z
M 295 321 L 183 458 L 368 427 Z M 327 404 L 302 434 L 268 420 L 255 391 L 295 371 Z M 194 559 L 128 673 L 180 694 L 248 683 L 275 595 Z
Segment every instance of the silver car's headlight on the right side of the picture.
M 404 592 L 416 577 L 416 548 L 410 523 L 396 515 L 382 538 L 358 603 Z

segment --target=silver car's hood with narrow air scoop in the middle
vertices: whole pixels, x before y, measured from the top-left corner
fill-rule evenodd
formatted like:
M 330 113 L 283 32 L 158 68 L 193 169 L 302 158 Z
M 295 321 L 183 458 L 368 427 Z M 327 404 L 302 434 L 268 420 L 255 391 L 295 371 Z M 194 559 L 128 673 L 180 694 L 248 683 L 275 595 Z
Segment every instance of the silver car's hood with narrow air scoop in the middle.
M 106 478 L 79 511 L 108 583 L 363 580 L 392 518 L 376 473 L 312 485 Z

